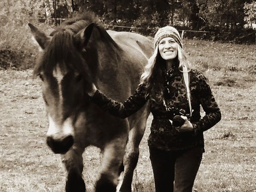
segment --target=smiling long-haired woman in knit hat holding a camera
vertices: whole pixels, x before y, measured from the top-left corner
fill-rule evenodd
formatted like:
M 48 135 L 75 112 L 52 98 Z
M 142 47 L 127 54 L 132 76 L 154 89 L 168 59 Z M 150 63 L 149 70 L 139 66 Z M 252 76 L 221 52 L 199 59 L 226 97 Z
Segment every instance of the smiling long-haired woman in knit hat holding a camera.
M 154 48 L 137 90 L 124 103 L 108 98 L 94 84 L 88 95 L 99 107 L 121 118 L 134 114 L 149 100 L 154 119 L 148 146 L 155 190 L 191 192 L 204 152 L 203 132 L 221 120 L 221 112 L 206 77 L 190 70 L 175 28 L 160 28 Z

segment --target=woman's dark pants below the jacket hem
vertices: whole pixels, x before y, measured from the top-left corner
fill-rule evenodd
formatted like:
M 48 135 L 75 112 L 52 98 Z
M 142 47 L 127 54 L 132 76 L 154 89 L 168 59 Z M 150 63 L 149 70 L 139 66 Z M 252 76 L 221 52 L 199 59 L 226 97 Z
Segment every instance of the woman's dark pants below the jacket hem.
M 180 151 L 149 148 L 156 192 L 192 192 L 203 147 Z

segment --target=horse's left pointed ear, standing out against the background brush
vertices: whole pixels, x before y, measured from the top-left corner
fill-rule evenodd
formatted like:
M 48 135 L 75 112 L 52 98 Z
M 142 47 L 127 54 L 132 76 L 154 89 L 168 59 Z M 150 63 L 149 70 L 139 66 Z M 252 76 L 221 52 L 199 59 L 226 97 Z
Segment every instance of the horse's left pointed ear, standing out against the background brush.
M 29 28 L 35 37 L 35 40 L 38 42 L 39 46 L 42 49 L 45 49 L 47 45 L 49 44 L 51 37 L 47 37 L 44 32 L 41 32 L 39 29 L 37 29 L 35 26 L 33 26 L 31 23 L 28 24 Z

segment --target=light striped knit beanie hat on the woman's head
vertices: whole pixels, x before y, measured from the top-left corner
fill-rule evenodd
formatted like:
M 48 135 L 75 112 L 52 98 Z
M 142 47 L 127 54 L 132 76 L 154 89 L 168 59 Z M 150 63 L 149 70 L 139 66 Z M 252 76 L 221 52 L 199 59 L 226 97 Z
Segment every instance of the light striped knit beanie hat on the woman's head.
M 165 37 L 174 38 L 174 40 L 180 45 L 180 47 L 183 48 L 182 40 L 180 38 L 180 34 L 177 31 L 177 29 L 175 29 L 172 26 L 165 26 L 165 27 L 162 27 L 162 28 L 158 29 L 157 33 L 155 34 L 154 49 L 156 49 L 156 46 L 158 45 L 160 40 L 162 40 Z

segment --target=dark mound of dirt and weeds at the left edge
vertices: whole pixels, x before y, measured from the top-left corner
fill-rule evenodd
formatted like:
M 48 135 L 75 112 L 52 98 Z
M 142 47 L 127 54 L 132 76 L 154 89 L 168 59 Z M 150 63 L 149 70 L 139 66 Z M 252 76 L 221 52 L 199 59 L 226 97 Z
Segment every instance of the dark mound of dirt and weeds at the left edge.
M 23 51 L 0 50 L 0 69 L 31 69 L 35 55 Z

